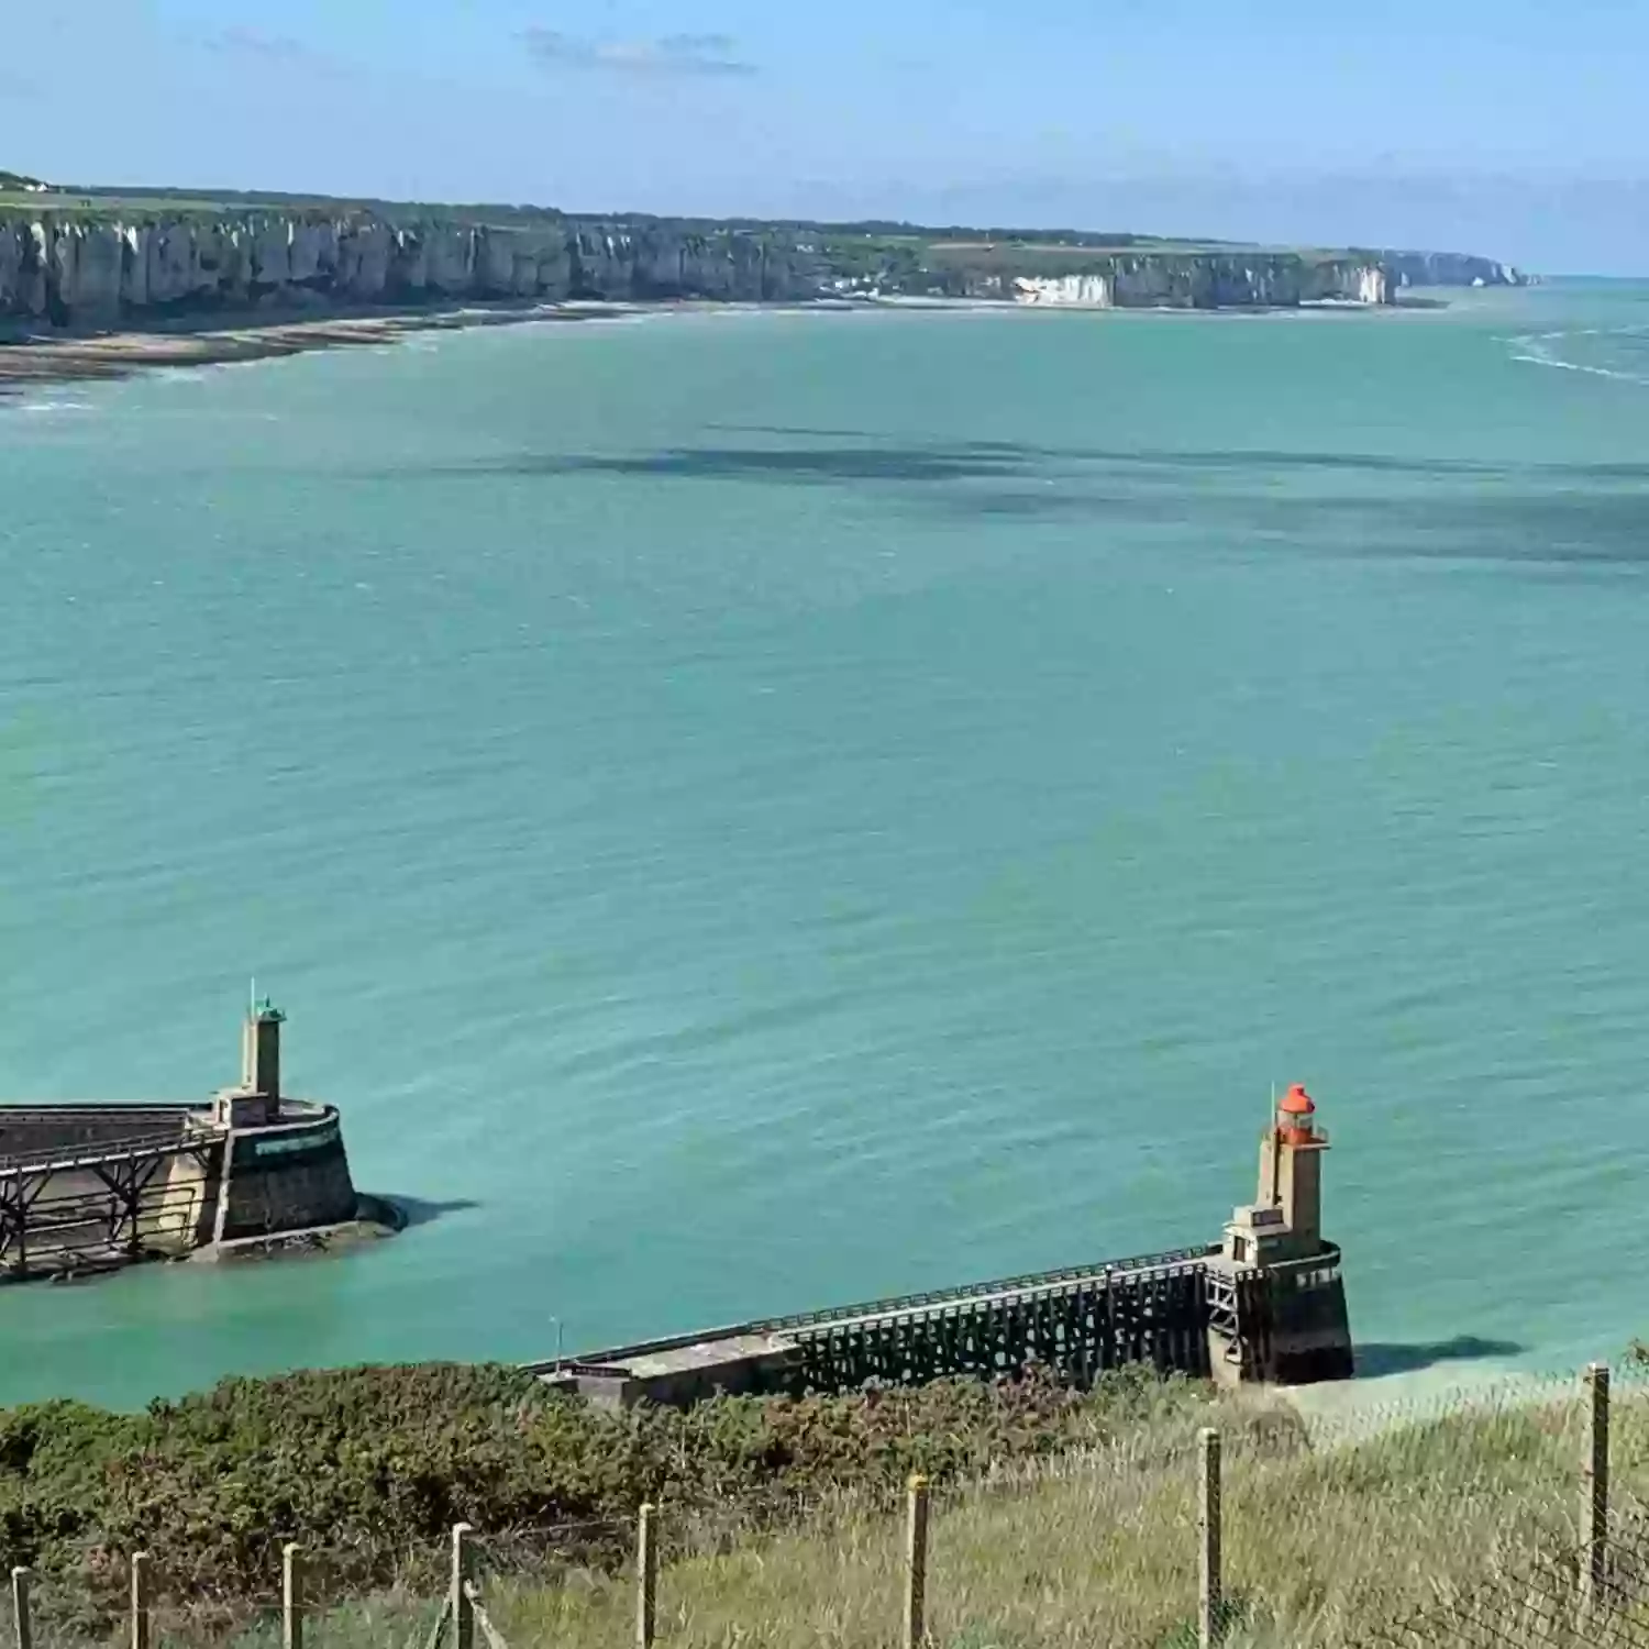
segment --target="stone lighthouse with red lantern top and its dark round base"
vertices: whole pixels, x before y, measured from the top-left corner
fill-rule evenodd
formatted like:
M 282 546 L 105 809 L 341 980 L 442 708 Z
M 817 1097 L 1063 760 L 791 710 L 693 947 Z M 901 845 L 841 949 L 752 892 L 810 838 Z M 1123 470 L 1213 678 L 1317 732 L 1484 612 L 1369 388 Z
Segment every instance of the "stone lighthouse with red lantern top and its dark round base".
M 1209 1257 L 1209 1364 L 1222 1382 L 1304 1385 L 1352 1374 L 1341 1252 L 1322 1237 L 1327 1133 L 1301 1083 L 1260 1138 L 1260 1187 Z

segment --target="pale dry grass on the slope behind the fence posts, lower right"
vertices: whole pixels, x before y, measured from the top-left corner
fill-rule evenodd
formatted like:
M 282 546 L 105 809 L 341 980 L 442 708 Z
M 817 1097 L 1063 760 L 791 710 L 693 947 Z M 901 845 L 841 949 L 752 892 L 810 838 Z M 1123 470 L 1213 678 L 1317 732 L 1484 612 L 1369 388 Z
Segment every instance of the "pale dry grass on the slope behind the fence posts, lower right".
M 1380 1628 L 1440 1593 L 1497 1576 L 1502 1590 L 1487 1608 L 1502 1608 L 1504 1586 L 1520 1595 L 1535 1552 L 1563 1553 L 1578 1539 L 1583 1416 L 1570 1397 L 1397 1425 L 1362 1441 L 1329 1435 L 1316 1446 L 1265 1398 L 1212 1413 L 1167 1400 L 1106 1446 L 938 1497 L 928 1581 L 935 1644 L 1194 1644 L 1196 1431 L 1210 1418 L 1220 1421 L 1227 1456 L 1230 1649 L 1390 1642 Z M 1616 1421 L 1616 1471 L 1631 1479 L 1649 1441 L 1649 1412 L 1633 1400 Z M 1621 1484 L 1623 1499 L 1629 1486 Z M 618 1649 L 632 1631 L 622 1576 L 493 1580 L 488 1595 L 513 1644 Z M 900 1619 L 899 1520 L 849 1502 L 777 1539 L 691 1557 L 666 1568 L 660 1618 L 661 1637 L 683 1649 L 881 1649 L 895 1641 Z M 1506 1642 L 1567 1642 L 1525 1639 L 1517 1624 L 1504 1623 Z M 356 1616 L 340 1641 L 388 1644 L 386 1626 Z

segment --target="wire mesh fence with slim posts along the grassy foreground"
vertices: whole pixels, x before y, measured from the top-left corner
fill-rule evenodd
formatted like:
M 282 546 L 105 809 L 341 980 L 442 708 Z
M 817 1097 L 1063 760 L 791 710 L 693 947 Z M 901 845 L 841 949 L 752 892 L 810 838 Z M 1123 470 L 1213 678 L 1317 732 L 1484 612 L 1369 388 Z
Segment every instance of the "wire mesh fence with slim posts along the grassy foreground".
M 1219 1421 L 1219 1431 L 1207 1426 Z M 1301 1413 L 1164 1405 L 1095 1446 L 968 1481 L 843 1492 L 775 1527 L 727 1502 L 460 1529 L 363 1596 L 364 1555 L 284 1545 L 269 1586 L 109 1560 L 132 1649 L 1649 1649 L 1649 1393 L 1520 1382 Z M 110 1623 L 13 1576 L 20 1649 Z

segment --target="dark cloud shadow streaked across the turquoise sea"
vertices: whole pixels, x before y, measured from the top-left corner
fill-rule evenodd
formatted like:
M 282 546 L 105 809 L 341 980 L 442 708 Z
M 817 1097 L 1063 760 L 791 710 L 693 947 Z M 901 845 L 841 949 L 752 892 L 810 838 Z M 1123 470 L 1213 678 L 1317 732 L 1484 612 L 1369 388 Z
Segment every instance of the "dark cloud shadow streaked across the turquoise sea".
M 1642 462 L 1491 463 L 1367 452 L 904 442 L 785 425 L 754 425 L 750 432 L 788 444 L 523 452 L 425 467 L 419 475 L 857 485 L 970 521 L 1189 528 L 1318 554 L 1380 556 L 1392 546 L 1405 561 L 1649 564 L 1649 463 Z M 1266 485 L 1257 488 L 1255 477 Z M 1288 477 L 1299 478 L 1299 488 L 1270 485 Z

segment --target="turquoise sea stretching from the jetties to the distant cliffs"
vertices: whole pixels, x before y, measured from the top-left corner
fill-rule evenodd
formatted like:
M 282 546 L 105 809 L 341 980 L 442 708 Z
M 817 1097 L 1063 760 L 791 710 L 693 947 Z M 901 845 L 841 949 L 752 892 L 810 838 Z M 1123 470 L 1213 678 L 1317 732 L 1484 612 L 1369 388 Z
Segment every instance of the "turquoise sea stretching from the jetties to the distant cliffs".
M 0 1093 L 249 976 L 414 1225 L 0 1294 L 0 1402 L 1214 1237 L 1370 1372 L 1649 1332 L 1649 289 L 729 313 L 0 404 Z

